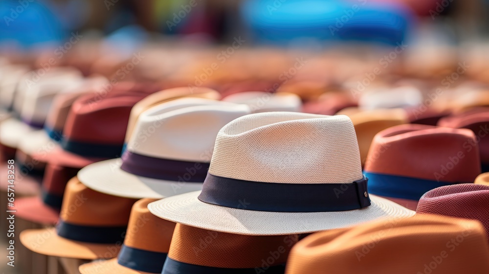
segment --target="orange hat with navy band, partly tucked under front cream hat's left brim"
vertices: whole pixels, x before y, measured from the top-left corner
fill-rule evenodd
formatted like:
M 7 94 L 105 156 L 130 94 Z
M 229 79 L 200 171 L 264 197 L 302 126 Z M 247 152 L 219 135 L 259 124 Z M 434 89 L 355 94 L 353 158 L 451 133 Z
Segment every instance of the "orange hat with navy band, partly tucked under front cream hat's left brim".
M 84 264 L 80 273 L 161 273 L 176 224 L 151 214 L 148 204 L 154 201 L 141 199 L 133 205 L 126 239 L 117 258 Z

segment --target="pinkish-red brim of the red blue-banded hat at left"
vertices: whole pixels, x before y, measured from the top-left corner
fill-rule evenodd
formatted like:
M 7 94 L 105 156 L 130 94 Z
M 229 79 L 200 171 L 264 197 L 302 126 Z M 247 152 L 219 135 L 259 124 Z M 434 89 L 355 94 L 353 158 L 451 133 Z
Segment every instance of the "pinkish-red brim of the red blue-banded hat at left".
M 34 160 L 56 164 L 65 167 L 82 168 L 91 163 L 106 160 L 100 158 L 87 158 L 64 150 L 59 144 L 56 144 L 49 150 L 32 155 Z

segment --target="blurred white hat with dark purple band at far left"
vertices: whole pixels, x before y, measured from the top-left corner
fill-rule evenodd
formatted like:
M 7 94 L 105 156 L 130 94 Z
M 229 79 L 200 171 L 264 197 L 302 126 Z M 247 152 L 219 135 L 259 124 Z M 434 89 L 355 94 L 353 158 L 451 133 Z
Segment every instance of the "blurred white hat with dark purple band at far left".
M 10 117 L 0 124 L 0 143 L 8 147 L 17 148 L 19 140 L 27 133 L 43 126 L 56 94 L 82 83 L 82 75 L 72 69 L 66 73 L 61 68 L 46 72 L 37 82 L 31 79 L 35 73 L 22 76 L 17 84 L 14 99 L 14 111 L 20 114 L 21 119 Z

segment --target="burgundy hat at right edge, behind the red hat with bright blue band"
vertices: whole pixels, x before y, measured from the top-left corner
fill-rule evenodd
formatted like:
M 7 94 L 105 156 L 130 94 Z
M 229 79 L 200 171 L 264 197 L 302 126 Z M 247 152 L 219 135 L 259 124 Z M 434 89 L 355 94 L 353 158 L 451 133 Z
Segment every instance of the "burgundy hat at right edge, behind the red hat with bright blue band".
M 439 126 L 449 128 L 466 128 L 475 133 L 479 143 L 482 172 L 489 171 L 489 108 L 478 108 L 445 117 L 438 122 Z

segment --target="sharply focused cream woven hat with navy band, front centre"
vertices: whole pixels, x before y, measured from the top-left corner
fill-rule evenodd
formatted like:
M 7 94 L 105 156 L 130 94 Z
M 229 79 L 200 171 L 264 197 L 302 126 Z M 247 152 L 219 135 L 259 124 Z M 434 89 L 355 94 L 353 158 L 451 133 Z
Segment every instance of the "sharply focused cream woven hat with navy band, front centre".
M 224 126 L 202 191 L 148 208 L 172 222 L 247 235 L 307 233 L 414 214 L 368 194 L 348 116 L 287 112 L 246 115 Z

